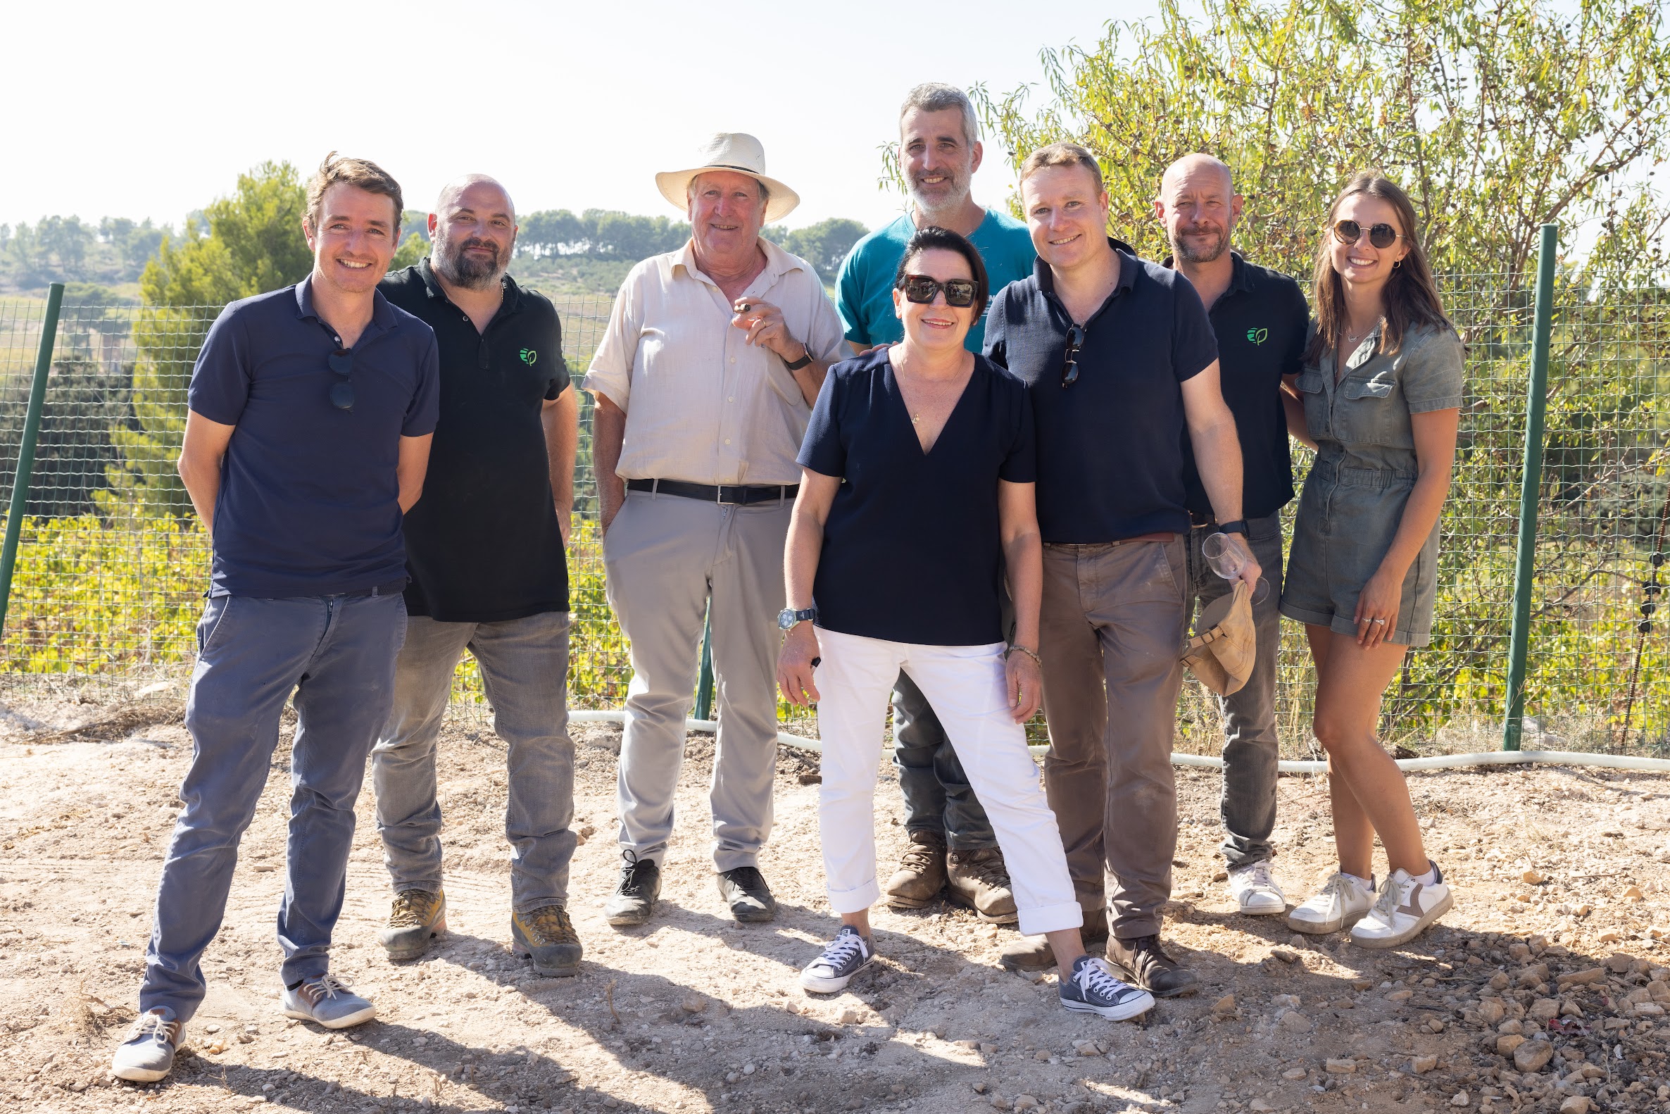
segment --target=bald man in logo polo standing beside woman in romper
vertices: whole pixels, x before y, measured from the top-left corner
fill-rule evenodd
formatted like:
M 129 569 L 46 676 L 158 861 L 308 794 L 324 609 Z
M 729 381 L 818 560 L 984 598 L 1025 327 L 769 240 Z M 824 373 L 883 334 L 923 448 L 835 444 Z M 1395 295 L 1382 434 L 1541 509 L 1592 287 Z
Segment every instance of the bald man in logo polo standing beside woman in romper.
M 1264 570 L 1269 591 L 1252 603 L 1258 660 L 1252 676 L 1221 698 L 1224 717 L 1224 858 L 1229 892 L 1242 914 L 1269 915 L 1288 899 L 1269 870 L 1269 833 L 1276 827 L 1276 660 L 1281 653 L 1281 508 L 1293 499 L 1288 456 L 1288 408 L 1298 399 L 1281 389 L 1299 374 L 1311 314 L 1299 284 L 1256 267 L 1229 251 L 1241 217 L 1229 167 L 1212 155 L 1184 155 L 1161 179 L 1154 215 L 1166 225 L 1176 266 L 1206 304 L 1217 334 L 1224 403 L 1236 416 L 1241 441 L 1241 511 L 1247 544 Z M 1299 419 L 1303 421 L 1303 409 Z M 1189 494 L 1189 573 L 1204 608 L 1231 590 L 1212 573 L 1201 543 L 1216 533 L 1211 499 L 1194 461 L 1184 456 Z

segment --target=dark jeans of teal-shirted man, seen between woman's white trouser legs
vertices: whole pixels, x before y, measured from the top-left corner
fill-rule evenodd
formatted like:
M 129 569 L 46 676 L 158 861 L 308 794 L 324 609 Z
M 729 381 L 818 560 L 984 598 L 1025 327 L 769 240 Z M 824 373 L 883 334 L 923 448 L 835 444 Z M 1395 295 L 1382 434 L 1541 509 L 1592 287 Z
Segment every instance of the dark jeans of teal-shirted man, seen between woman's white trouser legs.
M 903 673 L 893 683 L 893 767 L 905 795 L 905 830 L 937 832 L 952 850 L 997 847 L 985 808 L 945 738 L 939 717 Z

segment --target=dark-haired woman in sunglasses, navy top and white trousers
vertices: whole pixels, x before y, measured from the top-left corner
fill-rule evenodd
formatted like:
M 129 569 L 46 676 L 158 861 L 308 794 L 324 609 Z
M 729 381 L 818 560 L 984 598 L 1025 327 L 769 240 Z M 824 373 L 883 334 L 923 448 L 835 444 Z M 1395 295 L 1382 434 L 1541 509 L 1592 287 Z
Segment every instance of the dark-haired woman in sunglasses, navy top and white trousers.
M 917 232 L 893 279 L 903 341 L 830 367 L 800 449 L 777 681 L 792 703 L 818 703 L 818 827 L 842 919 L 800 982 L 835 992 L 875 957 L 875 775 L 903 670 L 985 805 L 1020 930 L 1054 945 L 1062 1005 L 1121 1020 L 1154 999 L 1084 954 L 1060 832 L 1027 752 L 1042 696 L 1032 409 L 1019 379 L 964 347 L 987 296 L 967 239 Z

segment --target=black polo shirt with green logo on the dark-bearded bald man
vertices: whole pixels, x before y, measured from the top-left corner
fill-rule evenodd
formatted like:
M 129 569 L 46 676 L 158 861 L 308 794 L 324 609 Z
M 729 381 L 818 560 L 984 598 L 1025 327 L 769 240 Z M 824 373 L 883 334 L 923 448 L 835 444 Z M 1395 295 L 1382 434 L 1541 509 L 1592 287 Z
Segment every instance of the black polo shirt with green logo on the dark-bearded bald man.
M 486 332 L 448 299 L 428 259 L 381 287 L 441 346 L 441 419 L 423 498 L 406 514 L 406 610 L 443 623 L 568 610 L 541 421 L 568 386 L 563 331 L 549 299 L 509 276 L 503 287 Z

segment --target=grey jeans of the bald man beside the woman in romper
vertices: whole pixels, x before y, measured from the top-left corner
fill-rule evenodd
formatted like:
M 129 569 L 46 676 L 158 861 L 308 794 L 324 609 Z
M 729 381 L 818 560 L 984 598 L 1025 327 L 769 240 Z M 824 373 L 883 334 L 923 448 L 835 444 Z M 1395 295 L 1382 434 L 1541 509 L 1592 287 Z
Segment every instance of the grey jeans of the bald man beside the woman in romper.
M 1229 581 L 1217 576 L 1201 554 L 1216 526 L 1189 531 L 1189 580 L 1194 583 L 1196 608 L 1229 591 Z M 1281 745 L 1276 738 L 1276 663 L 1281 655 L 1281 518 L 1247 519 L 1247 544 L 1264 570 L 1269 595 L 1252 605 L 1252 628 L 1258 660 L 1252 676 L 1236 693 L 1219 696 L 1224 717 L 1224 788 L 1219 812 L 1224 818 L 1224 858 L 1231 867 L 1271 857 L 1269 833 L 1276 827 L 1276 762 Z M 1196 611 L 1199 613 L 1199 611 Z

